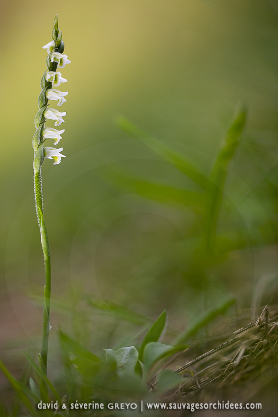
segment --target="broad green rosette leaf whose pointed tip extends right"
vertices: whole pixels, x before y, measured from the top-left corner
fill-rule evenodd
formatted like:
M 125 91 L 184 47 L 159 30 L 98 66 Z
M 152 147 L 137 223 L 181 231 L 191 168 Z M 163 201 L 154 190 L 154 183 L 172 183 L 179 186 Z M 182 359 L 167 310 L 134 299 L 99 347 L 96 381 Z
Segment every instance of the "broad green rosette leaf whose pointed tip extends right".
M 168 358 L 177 352 L 181 352 L 187 349 L 186 345 L 170 346 L 168 344 L 151 342 L 145 346 L 143 353 L 143 363 L 147 369 L 150 369 L 152 365 L 160 361 L 160 359 Z

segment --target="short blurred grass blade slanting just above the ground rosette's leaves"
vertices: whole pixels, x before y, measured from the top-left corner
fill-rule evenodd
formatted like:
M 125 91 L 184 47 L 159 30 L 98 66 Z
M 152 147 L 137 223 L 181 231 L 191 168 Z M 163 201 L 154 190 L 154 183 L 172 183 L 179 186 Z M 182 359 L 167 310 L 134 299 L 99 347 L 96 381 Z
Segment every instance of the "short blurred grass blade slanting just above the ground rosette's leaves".
M 130 321 L 136 324 L 146 324 L 150 321 L 149 317 L 142 314 L 136 313 L 132 310 L 127 309 L 119 304 L 113 303 L 109 300 L 103 300 L 98 298 L 89 298 L 87 300 L 89 306 L 100 310 L 101 313 L 110 314 L 112 316 L 119 317 L 122 320 Z

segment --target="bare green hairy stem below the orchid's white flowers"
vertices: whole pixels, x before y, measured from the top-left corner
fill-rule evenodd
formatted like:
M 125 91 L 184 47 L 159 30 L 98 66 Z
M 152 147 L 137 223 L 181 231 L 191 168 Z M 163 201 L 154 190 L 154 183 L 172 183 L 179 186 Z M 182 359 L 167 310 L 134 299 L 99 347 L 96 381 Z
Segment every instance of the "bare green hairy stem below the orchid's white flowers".
M 42 349 L 41 349 L 41 361 L 40 367 L 43 372 L 47 372 L 47 359 L 48 359 L 48 339 L 50 326 L 50 299 L 51 299 L 51 255 L 49 248 L 49 240 L 47 229 L 43 216 L 43 193 L 42 193 L 42 178 L 41 169 L 39 172 L 34 170 L 34 191 L 35 191 L 35 205 L 38 217 L 38 223 L 41 234 L 41 243 L 45 261 L 46 271 L 46 285 L 44 287 L 44 316 L 43 316 L 43 337 L 42 337 Z M 41 381 L 41 397 L 47 397 L 47 385 L 44 381 Z

